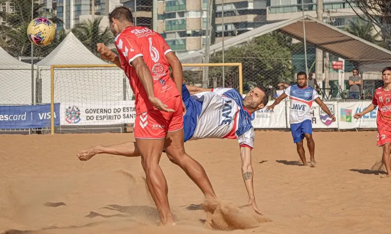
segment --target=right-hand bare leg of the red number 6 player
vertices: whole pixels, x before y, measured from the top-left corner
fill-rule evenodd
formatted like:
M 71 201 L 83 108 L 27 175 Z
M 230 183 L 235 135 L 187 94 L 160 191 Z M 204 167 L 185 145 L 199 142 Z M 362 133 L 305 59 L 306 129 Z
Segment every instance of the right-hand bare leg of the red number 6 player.
M 204 168 L 185 152 L 183 128 L 167 133 L 165 148 L 169 159 L 185 171 L 207 198 L 217 198 Z

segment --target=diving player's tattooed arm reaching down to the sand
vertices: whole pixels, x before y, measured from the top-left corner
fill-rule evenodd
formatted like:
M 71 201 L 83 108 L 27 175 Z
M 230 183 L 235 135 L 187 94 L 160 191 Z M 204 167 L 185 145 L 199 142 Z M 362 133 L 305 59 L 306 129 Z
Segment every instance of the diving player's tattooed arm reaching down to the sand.
M 254 195 L 254 186 L 253 186 L 253 177 L 254 171 L 251 164 L 251 149 L 247 146 L 240 147 L 240 157 L 241 157 L 241 173 L 244 180 L 244 185 L 246 186 L 248 193 L 248 206 L 252 206 L 254 211 L 258 214 L 263 214 L 257 206 Z

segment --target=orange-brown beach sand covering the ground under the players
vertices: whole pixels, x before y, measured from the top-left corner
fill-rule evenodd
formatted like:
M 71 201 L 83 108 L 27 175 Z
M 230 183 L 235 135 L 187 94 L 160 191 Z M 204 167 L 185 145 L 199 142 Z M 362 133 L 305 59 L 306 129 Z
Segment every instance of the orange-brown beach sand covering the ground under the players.
M 163 154 L 176 226 L 159 227 L 140 157 L 96 155 L 82 162 L 76 156 L 93 144 L 133 140 L 133 134 L 1 135 L 0 233 L 390 233 L 391 178 L 370 170 L 382 152 L 376 132 L 313 137 L 315 168 L 298 163 L 290 132 L 256 132 L 252 163 L 261 218 L 240 208 L 248 195 L 236 140 L 185 143 L 221 201 L 211 227 L 205 227 L 202 193 Z

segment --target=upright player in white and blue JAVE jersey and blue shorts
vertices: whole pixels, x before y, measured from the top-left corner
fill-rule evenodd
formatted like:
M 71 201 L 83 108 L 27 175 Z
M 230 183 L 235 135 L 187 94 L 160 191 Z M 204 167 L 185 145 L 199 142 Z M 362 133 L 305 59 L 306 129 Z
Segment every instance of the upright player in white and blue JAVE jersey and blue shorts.
M 325 103 L 319 98 L 318 93 L 313 88 L 307 86 L 307 74 L 299 72 L 297 74 L 297 85 L 289 86 L 284 93 L 278 97 L 272 105 L 266 107 L 267 110 L 273 110 L 284 98 L 290 98 L 290 113 L 289 123 L 290 131 L 292 133 L 293 142 L 296 143 L 297 153 L 300 159 L 307 166 L 305 160 L 305 152 L 303 147 L 303 139 L 307 140 L 307 146 L 311 159 L 311 166 L 315 162 L 315 142 L 312 139 L 312 116 L 311 107 L 312 102 L 315 101 L 335 121 L 335 117 L 330 113 Z

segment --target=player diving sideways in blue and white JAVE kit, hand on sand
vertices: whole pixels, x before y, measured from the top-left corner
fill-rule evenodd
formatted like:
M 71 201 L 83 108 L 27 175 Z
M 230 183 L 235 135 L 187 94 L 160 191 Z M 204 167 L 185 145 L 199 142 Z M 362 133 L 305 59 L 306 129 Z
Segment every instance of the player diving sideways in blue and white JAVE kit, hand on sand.
M 191 95 L 193 94 L 193 95 Z M 263 87 L 255 87 L 243 98 L 236 89 L 203 89 L 182 85 L 182 100 L 186 106 L 184 115 L 184 141 L 204 138 L 237 139 L 242 160 L 241 170 L 249 201 L 255 212 L 258 209 L 253 188 L 251 150 L 254 148 L 254 128 L 251 115 L 268 102 Z M 140 156 L 135 142 L 110 146 L 92 146 L 77 153 L 86 161 L 96 154 Z M 170 156 L 167 155 L 169 158 Z

